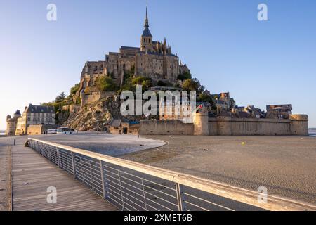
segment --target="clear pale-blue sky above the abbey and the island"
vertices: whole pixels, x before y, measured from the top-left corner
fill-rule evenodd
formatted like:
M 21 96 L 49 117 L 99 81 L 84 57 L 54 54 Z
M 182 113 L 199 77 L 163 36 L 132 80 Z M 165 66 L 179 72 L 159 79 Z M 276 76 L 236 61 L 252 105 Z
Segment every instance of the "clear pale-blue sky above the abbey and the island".
M 46 6 L 58 20 L 46 20 Z M 268 5 L 268 21 L 257 6 Z M 87 60 L 139 46 L 145 0 L 0 0 L 0 129 L 6 115 L 79 83 Z M 315 0 L 152 0 L 154 40 L 166 37 L 192 75 L 237 105 L 292 103 L 316 127 Z

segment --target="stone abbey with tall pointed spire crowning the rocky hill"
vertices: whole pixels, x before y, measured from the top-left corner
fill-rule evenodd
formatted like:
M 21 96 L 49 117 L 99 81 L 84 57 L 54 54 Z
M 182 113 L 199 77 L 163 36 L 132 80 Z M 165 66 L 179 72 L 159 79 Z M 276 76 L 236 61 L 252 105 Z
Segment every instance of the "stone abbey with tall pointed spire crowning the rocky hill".
M 166 39 L 153 41 L 149 29 L 148 13 L 140 47 L 121 46 L 119 53 L 110 52 L 105 61 L 87 62 L 81 73 L 83 87 L 93 85 L 97 77 L 109 75 L 121 85 L 126 72 L 134 71 L 135 76 L 149 77 L 152 82 L 159 81 L 174 84 L 179 74 L 190 72 L 187 65 L 179 63 L 178 56 L 171 51 Z

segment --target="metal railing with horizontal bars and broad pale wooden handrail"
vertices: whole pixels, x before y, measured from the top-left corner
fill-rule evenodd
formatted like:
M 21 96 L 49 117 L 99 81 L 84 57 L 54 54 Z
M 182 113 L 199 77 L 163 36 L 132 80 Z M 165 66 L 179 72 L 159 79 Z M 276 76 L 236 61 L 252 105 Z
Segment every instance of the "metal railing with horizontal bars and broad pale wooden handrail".
M 29 139 L 29 146 L 120 210 L 316 210 L 314 205 L 268 196 L 57 143 Z

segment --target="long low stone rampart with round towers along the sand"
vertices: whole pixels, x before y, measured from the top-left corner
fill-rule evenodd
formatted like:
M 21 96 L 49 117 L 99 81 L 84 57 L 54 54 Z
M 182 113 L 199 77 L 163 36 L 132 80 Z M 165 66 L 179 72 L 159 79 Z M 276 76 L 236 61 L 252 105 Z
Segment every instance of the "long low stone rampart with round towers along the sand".
M 308 136 L 308 116 L 291 115 L 289 120 L 209 118 L 195 115 L 193 124 L 180 120 L 140 121 L 143 135 L 200 135 L 200 136 Z

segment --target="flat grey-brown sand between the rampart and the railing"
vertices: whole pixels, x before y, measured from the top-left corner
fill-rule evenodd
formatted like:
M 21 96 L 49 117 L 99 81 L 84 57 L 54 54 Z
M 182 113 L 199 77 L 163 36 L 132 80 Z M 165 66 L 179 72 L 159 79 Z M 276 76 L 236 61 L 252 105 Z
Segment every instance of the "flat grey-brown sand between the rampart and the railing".
M 316 137 L 145 137 L 169 144 L 121 158 L 316 204 Z

